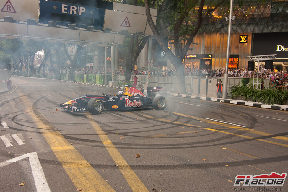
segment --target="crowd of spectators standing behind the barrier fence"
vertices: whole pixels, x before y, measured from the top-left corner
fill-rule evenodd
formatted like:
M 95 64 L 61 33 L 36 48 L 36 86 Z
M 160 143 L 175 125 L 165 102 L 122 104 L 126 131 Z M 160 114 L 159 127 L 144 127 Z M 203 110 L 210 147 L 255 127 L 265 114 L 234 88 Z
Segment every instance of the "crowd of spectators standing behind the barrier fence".
M 94 71 L 75 71 L 77 74 L 104 74 L 105 69 L 102 68 L 100 70 Z M 117 69 L 116 74 L 124 75 L 124 71 L 121 69 Z M 106 74 L 112 74 L 111 68 L 107 68 Z M 147 70 L 133 70 L 131 75 L 147 75 Z M 195 76 L 195 77 L 224 77 L 225 69 L 197 69 L 197 68 L 185 68 L 184 75 L 185 76 Z M 158 75 L 158 76 L 176 76 L 175 69 L 164 69 L 164 70 L 151 70 L 151 75 Z M 228 77 L 246 77 L 246 78 L 253 78 L 257 77 L 257 71 L 251 71 L 247 68 L 240 68 L 240 69 L 229 69 L 228 70 Z M 261 74 L 258 74 L 258 77 L 261 77 Z M 278 71 L 277 69 L 263 69 L 262 70 L 262 78 L 270 79 L 270 87 L 275 89 L 280 89 L 280 87 L 288 87 L 288 75 L 287 71 Z M 266 87 L 269 87 L 266 85 Z

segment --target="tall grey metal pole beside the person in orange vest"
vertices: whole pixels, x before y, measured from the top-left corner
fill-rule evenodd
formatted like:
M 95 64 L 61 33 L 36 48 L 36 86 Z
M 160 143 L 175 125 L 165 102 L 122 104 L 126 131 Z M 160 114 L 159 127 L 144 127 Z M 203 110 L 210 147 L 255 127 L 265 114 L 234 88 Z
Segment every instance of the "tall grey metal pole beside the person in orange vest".
M 228 87 L 228 63 L 229 63 L 229 50 L 230 50 L 230 36 L 232 28 L 232 12 L 233 12 L 233 0 L 230 0 L 230 12 L 229 12 L 229 24 L 228 24 L 228 39 L 227 39 L 227 55 L 226 55 L 226 67 L 223 81 L 223 99 L 227 98 Z

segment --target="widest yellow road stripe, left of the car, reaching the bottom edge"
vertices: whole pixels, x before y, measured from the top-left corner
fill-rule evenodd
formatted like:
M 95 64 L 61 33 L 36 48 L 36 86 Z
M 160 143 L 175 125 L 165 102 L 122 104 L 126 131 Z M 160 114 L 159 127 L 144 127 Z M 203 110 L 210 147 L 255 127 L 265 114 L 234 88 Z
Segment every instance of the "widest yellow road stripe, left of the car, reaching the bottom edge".
M 19 95 L 22 92 L 17 90 L 17 93 Z M 32 103 L 28 97 L 22 96 L 22 99 L 25 100 L 22 103 L 27 110 L 30 109 Z M 29 110 L 28 113 L 37 127 L 42 128 L 42 135 L 77 189 L 115 191 L 59 131 L 56 131 L 52 125 L 43 123 L 45 119 L 42 115 L 34 114 L 35 112 L 33 113 L 32 110 Z

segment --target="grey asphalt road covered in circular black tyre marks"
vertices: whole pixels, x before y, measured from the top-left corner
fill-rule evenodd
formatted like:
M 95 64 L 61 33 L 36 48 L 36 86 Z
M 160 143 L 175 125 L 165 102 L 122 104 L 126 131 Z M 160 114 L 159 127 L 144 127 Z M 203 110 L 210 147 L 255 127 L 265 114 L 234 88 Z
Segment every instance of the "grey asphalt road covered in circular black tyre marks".
M 288 173 L 287 111 L 167 96 L 162 111 L 72 114 L 59 103 L 118 89 L 11 79 L 0 191 L 288 191 L 285 180 L 233 186 L 237 175 Z

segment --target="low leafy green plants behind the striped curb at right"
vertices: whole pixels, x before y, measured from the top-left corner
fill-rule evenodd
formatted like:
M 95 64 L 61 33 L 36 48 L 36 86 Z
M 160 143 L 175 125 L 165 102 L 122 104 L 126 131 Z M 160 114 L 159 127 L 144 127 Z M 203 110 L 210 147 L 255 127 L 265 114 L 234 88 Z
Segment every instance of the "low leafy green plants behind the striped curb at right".
M 275 89 L 253 89 L 253 84 L 234 85 L 230 90 L 231 98 L 241 97 L 244 100 L 252 100 L 263 104 L 284 104 L 288 100 L 288 91 Z

